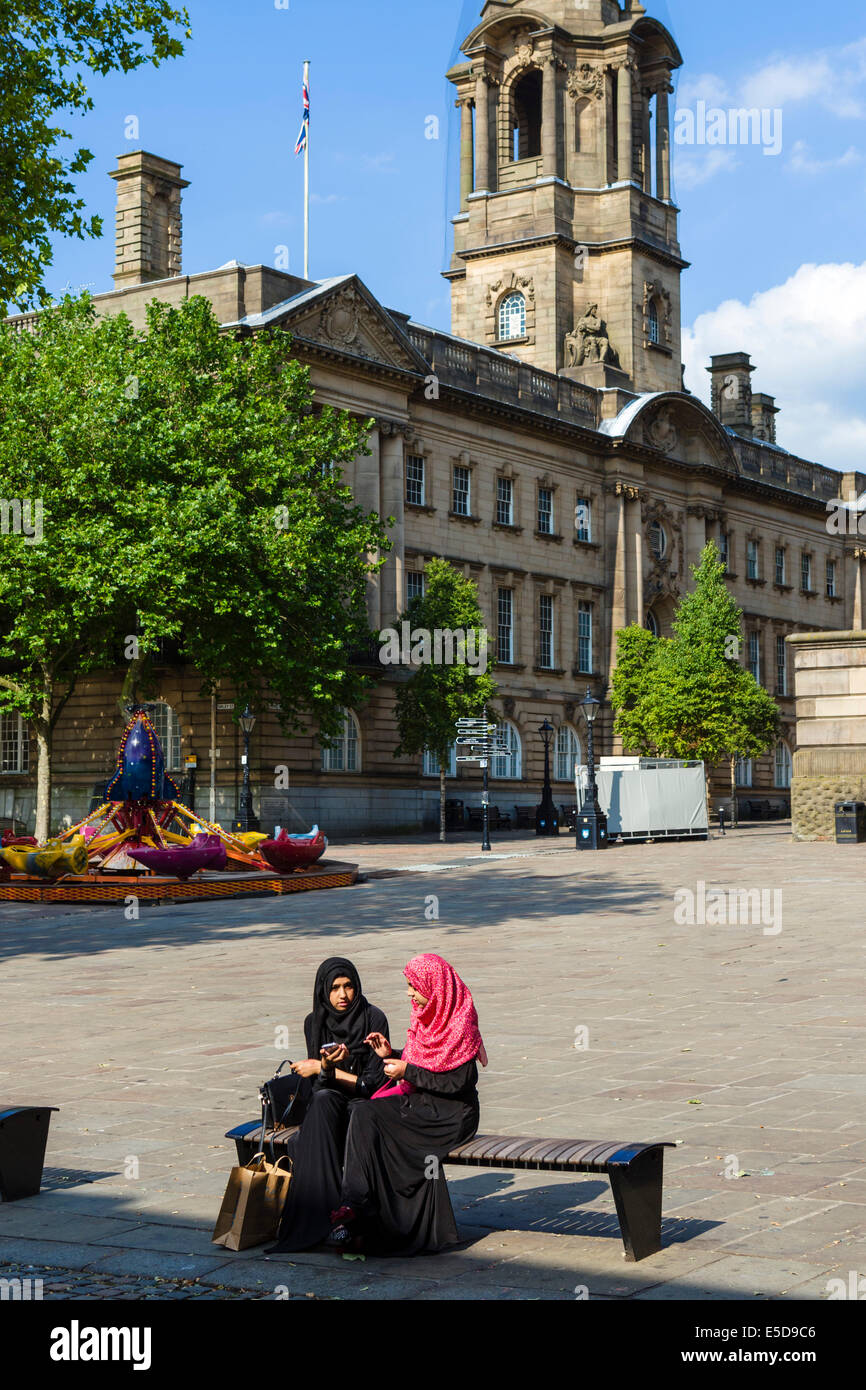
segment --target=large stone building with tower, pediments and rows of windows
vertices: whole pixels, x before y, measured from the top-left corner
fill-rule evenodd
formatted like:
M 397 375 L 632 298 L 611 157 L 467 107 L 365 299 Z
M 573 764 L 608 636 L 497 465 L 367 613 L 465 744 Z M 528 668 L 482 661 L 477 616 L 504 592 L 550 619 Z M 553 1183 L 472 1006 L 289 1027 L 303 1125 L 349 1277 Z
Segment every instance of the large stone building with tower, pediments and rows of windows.
M 541 29 L 539 13 L 549 21 Z M 664 142 L 651 190 L 639 138 L 646 90 L 681 61 L 666 31 L 638 4 L 491 0 L 466 50 L 468 63 L 450 74 L 464 103 L 466 136 L 466 210 L 449 272 L 453 334 L 386 310 L 357 275 L 310 282 L 238 263 L 195 275 L 178 267 L 158 281 L 147 279 L 142 263 L 140 282 L 97 296 L 97 310 L 124 311 L 140 327 L 154 296 L 179 303 L 204 295 L 227 332 L 289 329 L 317 400 L 374 418 L 370 453 L 346 468 L 359 503 L 395 518 L 393 549 L 368 589 L 370 621 L 381 630 L 396 620 L 434 556 L 477 581 L 498 644 L 498 714 L 516 752 L 493 767 L 491 799 L 502 809 L 539 799 L 538 727 L 545 719 L 562 739 L 555 799 L 574 801 L 570 759 L 585 749 L 577 703 L 588 687 L 606 702 L 617 630 L 644 623 L 669 632 L 689 567 L 706 541 L 717 539 L 745 613 L 742 660 L 777 696 L 783 723 L 784 749 L 741 770 L 740 795 L 784 802 L 796 746 L 785 638 L 866 626 L 866 552 L 827 527 L 827 503 L 859 496 L 866 478 L 795 457 L 774 442 L 776 404 L 752 396 L 745 353 L 713 359 L 713 410 L 681 389 L 677 210 L 666 185 Z M 619 79 L 616 85 L 617 121 L 632 135 L 623 146 L 610 124 L 610 64 L 631 61 L 632 51 L 641 54 L 639 67 L 623 107 L 619 96 L 627 89 Z M 466 103 L 480 90 L 489 96 L 492 182 L 503 139 L 503 107 L 495 113 L 500 97 L 492 93 L 517 72 L 539 74 L 525 103 L 542 83 L 538 132 L 531 110 L 527 118 L 521 107 L 520 117 L 525 138 L 541 139 L 541 165 L 532 175 L 527 161 L 535 156 L 512 161 L 521 165 L 516 171 L 498 164 L 502 186 L 485 190 L 475 174 L 484 129 L 477 111 L 466 117 Z M 553 111 L 559 132 L 553 146 L 545 111 Z M 544 167 L 552 147 L 553 171 Z M 621 171 L 617 163 L 610 182 L 610 161 L 623 149 L 631 156 Z M 143 182 L 140 189 L 146 204 Z M 121 203 L 118 218 L 126 225 L 129 207 Z M 582 265 L 575 242 L 585 247 Z M 523 296 L 525 341 L 496 346 L 509 293 Z M 25 331 L 32 318 L 14 322 Z M 357 834 L 434 821 L 436 777 L 424 774 L 420 759 L 393 758 L 398 677 L 388 667 L 375 667 L 375 676 L 368 703 L 348 720 L 339 769 L 334 760 L 322 767 L 314 728 L 288 742 L 272 712 L 261 714 L 252 773 L 268 828 L 318 820 L 331 833 Z M 83 815 L 95 781 L 108 771 L 121 728 L 121 671 L 106 671 L 64 710 L 56 753 L 61 817 Z M 231 709 L 222 708 L 231 706 L 232 692 L 211 712 L 197 691 L 195 671 L 157 669 L 156 694 L 171 710 L 164 719 L 174 720 L 177 756 L 197 758 L 196 808 L 210 808 L 213 766 L 213 806 L 227 820 L 239 790 L 236 728 Z M 596 751 L 619 751 L 607 703 Z M 4 752 L 0 815 L 17 808 L 21 819 L 29 817 L 32 766 L 24 770 L 21 751 L 17 760 Z M 478 801 L 473 769 L 460 767 L 448 787 L 450 796 Z M 727 767 L 719 769 L 714 791 L 719 801 L 730 796 Z

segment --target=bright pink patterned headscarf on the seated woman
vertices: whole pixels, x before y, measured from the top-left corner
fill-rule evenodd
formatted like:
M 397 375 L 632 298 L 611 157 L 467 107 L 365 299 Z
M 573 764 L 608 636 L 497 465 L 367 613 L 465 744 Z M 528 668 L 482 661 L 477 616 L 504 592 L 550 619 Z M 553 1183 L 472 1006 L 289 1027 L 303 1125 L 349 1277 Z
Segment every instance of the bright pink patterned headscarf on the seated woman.
M 427 999 L 424 1008 L 413 1001 L 403 1061 L 425 1072 L 453 1072 L 474 1058 L 487 1066 L 475 1005 L 453 965 L 442 956 L 420 955 L 403 974 Z

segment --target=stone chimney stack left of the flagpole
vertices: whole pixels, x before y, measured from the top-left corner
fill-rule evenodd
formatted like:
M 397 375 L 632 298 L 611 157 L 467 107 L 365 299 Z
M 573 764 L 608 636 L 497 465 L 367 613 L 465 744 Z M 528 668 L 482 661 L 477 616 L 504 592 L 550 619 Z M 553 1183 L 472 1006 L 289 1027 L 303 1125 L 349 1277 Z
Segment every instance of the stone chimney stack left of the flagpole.
M 158 154 L 133 150 L 120 154 L 117 179 L 114 285 L 147 285 L 179 275 L 181 165 Z

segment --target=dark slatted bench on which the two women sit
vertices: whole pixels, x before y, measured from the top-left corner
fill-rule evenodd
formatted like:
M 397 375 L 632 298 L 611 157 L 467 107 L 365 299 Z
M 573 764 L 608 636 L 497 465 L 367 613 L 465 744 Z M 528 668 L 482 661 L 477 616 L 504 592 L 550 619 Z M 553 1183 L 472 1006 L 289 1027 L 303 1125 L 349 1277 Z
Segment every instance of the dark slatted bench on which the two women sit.
M 297 1126 L 268 1130 L 264 1143 L 271 1154 L 285 1148 Z M 238 1125 L 234 1138 L 240 1163 L 261 1150 L 261 1120 Z M 664 1150 L 670 1141 L 652 1144 L 602 1143 L 580 1138 L 475 1134 L 452 1150 L 446 1163 L 459 1168 L 530 1169 L 535 1173 L 606 1173 L 620 1222 L 626 1259 L 646 1259 L 662 1248 L 662 1180 Z

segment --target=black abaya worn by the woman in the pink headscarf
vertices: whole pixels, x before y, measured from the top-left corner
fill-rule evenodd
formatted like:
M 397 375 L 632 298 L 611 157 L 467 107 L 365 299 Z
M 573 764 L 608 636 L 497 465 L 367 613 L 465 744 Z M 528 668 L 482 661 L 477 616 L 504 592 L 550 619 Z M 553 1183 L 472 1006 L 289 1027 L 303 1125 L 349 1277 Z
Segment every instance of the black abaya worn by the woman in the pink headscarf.
M 409 1095 L 353 1108 L 341 1205 L 359 1216 L 364 1250 L 414 1255 L 459 1241 L 442 1159 L 478 1130 L 478 1069 L 406 1068 Z

